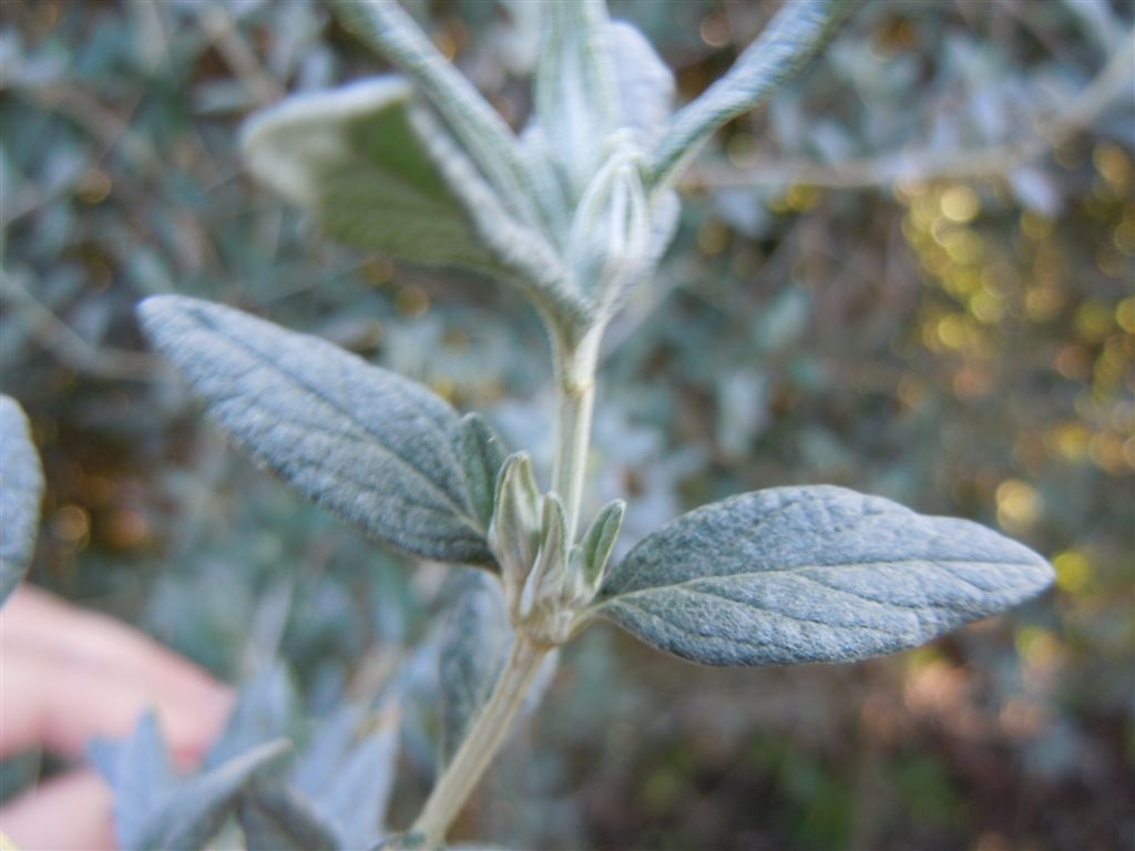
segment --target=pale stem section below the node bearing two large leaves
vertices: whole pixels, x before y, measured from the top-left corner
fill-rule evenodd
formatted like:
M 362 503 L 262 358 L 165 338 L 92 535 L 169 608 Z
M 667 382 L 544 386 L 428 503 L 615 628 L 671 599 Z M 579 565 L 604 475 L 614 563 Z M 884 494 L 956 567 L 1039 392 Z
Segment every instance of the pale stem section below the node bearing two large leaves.
M 523 633 L 516 633 L 493 694 L 434 786 L 418 820 L 410 828 L 411 833 L 422 834 L 430 846 L 445 839 L 449 824 L 504 743 L 512 719 L 524 701 L 532 677 L 548 649 Z

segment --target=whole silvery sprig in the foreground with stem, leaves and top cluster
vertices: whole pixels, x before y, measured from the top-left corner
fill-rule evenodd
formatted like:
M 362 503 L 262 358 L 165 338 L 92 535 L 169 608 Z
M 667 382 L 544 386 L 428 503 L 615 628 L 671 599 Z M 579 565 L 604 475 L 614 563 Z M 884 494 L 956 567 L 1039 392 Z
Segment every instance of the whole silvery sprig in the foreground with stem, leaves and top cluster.
M 637 30 L 602 0 L 546 0 L 535 115 L 516 136 L 395 2 L 343 0 L 346 26 L 404 76 L 300 95 L 249 123 L 253 174 L 328 236 L 477 270 L 530 298 L 558 394 L 549 488 L 476 414 L 326 342 L 192 298 L 142 305 L 150 339 L 254 457 L 386 545 L 487 572 L 446 630 L 443 770 L 401 842 L 444 839 L 545 659 L 596 618 L 703 664 L 847 662 L 1051 581 L 1044 559 L 989 529 L 835 487 L 705 506 L 614 565 L 624 505 L 580 517 L 600 339 L 673 235 L 675 177 L 849 6 L 785 3 L 674 112 L 672 75 Z

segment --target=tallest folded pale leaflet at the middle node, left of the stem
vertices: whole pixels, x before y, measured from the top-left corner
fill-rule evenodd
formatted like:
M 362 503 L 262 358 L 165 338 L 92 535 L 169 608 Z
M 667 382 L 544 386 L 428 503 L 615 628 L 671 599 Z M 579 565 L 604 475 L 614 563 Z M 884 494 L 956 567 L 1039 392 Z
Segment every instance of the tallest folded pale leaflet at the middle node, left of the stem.
M 510 455 L 497 478 L 489 538 L 505 575 L 516 585 L 528 576 L 540 537 L 540 489 L 526 452 Z

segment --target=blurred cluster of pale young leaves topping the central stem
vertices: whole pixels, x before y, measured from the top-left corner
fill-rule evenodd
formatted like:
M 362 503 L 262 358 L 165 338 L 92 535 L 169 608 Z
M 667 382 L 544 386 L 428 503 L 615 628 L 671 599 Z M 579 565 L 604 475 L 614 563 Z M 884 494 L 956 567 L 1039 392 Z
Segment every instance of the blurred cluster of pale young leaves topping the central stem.
M 638 30 L 609 20 L 603 0 L 546 0 L 535 115 L 518 137 L 394 0 L 339 0 L 343 23 L 407 79 L 291 98 L 250 121 L 244 152 L 331 238 L 510 280 L 561 334 L 582 336 L 662 258 L 686 163 L 854 5 L 787 5 L 675 112 L 673 75 Z

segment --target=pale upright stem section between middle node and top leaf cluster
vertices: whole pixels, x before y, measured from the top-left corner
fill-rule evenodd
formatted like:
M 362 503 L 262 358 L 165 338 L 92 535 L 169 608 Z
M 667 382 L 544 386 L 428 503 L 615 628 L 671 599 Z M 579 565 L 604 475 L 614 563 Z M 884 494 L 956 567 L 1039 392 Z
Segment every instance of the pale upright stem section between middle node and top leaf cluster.
M 569 344 L 553 335 L 556 372 L 557 421 L 556 460 L 552 489 L 564 502 L 568 513 L 568 540 L 575 540 L 579 507 L 587 472 L 587 449 L 591 441 L 591 406 L 595 402 L 595 364 L 604 327 L 591 328 L 583 337 Z

